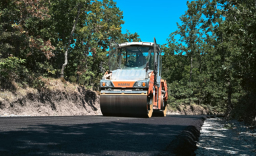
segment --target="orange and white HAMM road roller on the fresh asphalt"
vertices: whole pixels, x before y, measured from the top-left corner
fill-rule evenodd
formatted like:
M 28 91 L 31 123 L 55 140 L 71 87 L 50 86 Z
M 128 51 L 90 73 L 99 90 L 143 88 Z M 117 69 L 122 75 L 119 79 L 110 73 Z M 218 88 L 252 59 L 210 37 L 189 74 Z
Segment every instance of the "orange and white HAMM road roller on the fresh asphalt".
M 109 70 L 100 80 L 104 116 L 166 116 L 168 92 L 161 78 L 161 54 L 155 38 L 154 42 L 110 41 Z

